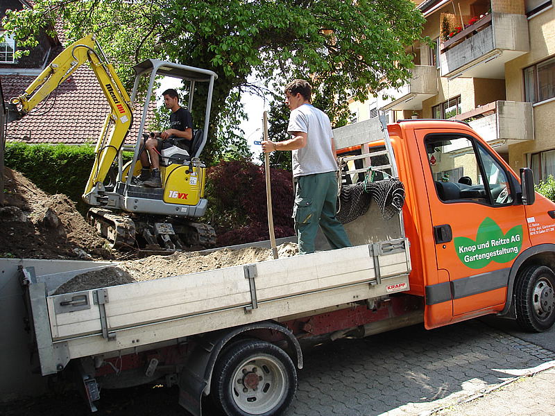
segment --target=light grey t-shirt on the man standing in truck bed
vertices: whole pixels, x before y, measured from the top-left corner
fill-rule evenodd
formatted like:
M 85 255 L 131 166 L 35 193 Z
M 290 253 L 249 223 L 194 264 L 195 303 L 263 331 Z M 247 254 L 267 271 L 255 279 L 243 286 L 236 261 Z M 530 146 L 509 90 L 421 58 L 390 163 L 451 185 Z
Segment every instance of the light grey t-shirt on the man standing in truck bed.
M 293 150 L 293 177 L 338 170 L 332 150 L 332 124 L 325 112 L 311 104 L 291 111 L 287 132 L 307 133 L 307 146 Z

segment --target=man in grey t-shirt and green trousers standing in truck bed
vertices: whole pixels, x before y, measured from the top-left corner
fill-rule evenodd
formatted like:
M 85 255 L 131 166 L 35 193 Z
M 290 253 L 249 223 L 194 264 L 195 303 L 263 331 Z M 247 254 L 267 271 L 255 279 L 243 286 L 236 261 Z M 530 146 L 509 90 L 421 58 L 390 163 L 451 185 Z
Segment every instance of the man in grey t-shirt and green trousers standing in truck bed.
M 336 218 L 337 176 L 330 118 L 311 105 L 312 88 L 306 80 L 285 87 L 285 103 L 291 110 L 287 132 L 291 139 L 263 141 L 262 150 L 292 150 L 295 204 L 293 218 L 299 254 L 316 251 L 318 225 L 332 248 L 350 247 L 349 237 Z

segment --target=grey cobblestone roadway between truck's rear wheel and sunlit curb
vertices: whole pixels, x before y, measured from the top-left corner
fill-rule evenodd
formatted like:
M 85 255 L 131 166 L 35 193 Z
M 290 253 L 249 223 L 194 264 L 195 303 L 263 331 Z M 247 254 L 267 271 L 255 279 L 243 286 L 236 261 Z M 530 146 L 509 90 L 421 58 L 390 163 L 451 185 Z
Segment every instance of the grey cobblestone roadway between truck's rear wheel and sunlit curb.
M 286 415 L 430 415 L 553 360 L 475 320 L 336 340 L 305 354 Z

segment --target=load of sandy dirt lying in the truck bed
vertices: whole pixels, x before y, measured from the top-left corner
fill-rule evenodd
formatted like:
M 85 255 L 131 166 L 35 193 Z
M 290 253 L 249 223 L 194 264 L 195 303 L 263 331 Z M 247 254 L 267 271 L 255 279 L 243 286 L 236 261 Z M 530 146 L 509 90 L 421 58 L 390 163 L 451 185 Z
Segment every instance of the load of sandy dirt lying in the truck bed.
M 283 243 L 278 247 L 280 258 L 291 257 L 297 253 L 296 243 Z M 62 284 L 54 294 L 88 291 L 94 288 L 133 283 L 133 281 L 162 279 L 270 259 L 273 259 L 273 251 L 259 247 L 238 250 L 222 248 L 210 253 L 175 252 L 170 256 L 151 256 L 145 259 L 122 261 L 114 267 L 85 272 Z

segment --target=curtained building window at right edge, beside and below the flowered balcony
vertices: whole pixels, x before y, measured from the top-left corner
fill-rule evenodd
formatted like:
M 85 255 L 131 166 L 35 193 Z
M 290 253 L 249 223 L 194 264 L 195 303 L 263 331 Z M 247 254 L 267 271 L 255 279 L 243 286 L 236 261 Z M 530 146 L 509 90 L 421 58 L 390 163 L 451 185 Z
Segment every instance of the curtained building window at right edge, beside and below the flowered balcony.
M 555 58 L 524 68 L 524 100 L 539 103 L 555 97 Z

